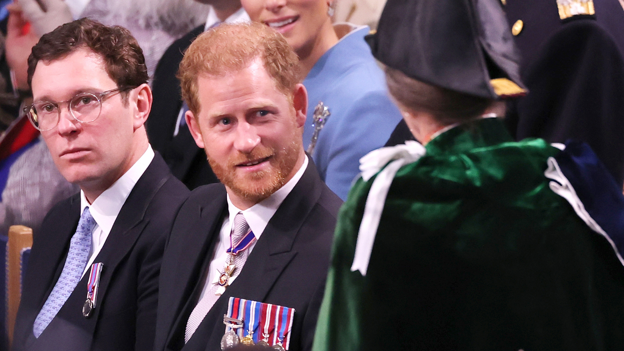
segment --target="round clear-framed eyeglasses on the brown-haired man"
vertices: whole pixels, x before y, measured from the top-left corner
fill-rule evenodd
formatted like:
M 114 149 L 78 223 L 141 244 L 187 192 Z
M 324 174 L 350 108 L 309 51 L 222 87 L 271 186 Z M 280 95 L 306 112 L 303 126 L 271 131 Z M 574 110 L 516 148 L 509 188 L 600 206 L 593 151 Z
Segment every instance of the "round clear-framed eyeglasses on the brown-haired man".
M 50 131 L 59 124 L 61 118 L 61 104 L 67 104 L 69 113 L 80 123 L 93 122 L 100 117 L 102 112 L 102 100 L 115 92 L 120 92 L 128 88 L 117 88 L 109 91 L 90 93 L 81 92 L 67 101 L 51 102 L 39 101 L 24 107 L 28 119 L 39 131 Z

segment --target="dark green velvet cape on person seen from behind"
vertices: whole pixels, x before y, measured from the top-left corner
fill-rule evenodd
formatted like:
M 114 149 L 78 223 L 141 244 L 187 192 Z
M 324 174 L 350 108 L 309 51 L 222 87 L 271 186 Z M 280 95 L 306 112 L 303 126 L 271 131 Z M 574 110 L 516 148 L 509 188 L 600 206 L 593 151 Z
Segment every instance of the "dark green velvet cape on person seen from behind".
M 339 214 L 314 351 L 624 350 L 624 269 L 548 187 L 541 139 L 482 119 L 402 167 L 366 277 L 351 272 L 374 180 Z

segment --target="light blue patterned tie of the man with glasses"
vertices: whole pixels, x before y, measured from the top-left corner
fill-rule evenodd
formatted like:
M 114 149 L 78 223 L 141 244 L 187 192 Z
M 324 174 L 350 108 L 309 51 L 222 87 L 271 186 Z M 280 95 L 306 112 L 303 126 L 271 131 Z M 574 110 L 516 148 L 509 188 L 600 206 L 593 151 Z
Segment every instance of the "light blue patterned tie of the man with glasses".
M 37 315 L 37 319 L 32 326 L 32 332 L 35 337 L 38 338 L 46 329 L 47 325 L 54 319 L 54 316 L 59 313 L 69 295 L 72 294 L 76 285 L 78 285 L 89 259 L 91 232 L 94 227 L 95 220 L 91 216 L 91 212 L 89 212 L 89 207 L 85 207 L 78 221 L 76 234 L 72 236 L 69 242 L 69 252 L 67 252 L 67 259 L 65 260 L 61 276 L 56 285 L 54 285 L 50 296 L 47 297 L 46 303 L 39 311 L 39 315 Z

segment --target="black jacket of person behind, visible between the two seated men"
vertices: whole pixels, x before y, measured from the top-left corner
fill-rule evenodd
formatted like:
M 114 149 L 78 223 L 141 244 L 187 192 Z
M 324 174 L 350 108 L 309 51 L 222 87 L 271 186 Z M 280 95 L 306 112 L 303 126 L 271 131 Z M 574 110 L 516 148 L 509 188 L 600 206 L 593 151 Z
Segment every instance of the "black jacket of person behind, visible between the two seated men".
M 152 91 L 154 103 L 146 123 L 152 147 L 163 155 L 173 175 L 189 189 L 218 182 L 206 161 L 206 154 L 197 147 L 188 127 L 180 127 L 178 135 L 173 137 L 175 122 L 182 108 L 180 81 L 175 75 L 182 62 L 183 52 L 202 34 L 203 27 L 199 26 L 173 42 L 158 61 Z

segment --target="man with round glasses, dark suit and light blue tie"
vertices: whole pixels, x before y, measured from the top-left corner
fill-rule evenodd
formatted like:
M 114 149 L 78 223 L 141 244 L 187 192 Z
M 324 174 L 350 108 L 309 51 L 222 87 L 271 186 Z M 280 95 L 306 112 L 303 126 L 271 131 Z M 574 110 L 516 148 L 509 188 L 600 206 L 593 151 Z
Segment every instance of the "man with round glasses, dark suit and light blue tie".
M 160 262 L 187 188 L 147 139 L 147 69 L 122 27 L 80 19 L 41 37 L 26 107 L 80 193 L 34 233 L 14 350 L 151 350 Z

